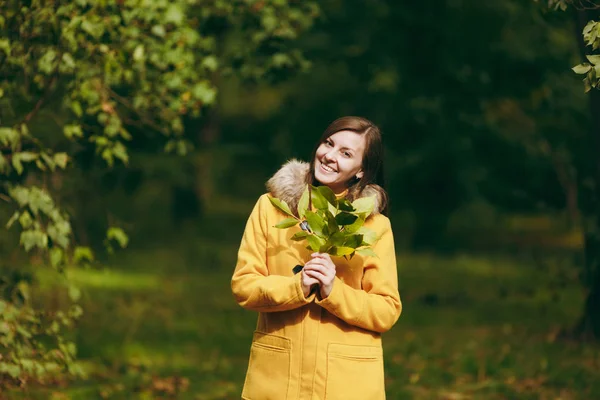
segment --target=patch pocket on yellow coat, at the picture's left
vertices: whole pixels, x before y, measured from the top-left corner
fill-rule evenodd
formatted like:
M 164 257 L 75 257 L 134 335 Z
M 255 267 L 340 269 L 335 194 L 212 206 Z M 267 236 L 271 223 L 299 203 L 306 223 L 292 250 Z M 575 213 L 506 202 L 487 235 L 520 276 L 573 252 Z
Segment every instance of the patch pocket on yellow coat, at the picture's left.
M 287 399 L 290 384 L 290 339 L 254 332 L 242 398 Z

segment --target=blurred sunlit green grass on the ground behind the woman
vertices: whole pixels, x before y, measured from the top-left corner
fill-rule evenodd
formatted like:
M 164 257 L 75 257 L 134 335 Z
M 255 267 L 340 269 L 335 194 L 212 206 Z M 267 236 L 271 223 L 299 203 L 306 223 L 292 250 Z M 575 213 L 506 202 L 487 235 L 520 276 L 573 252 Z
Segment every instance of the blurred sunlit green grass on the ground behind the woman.
M 239 398 L 256 314 L 229 290 L 235 248 L 189 251 L 132 252 L 106 271 L 70 271 L 83 293 L 75 335 L 88 379 L 27 398 Z M 559 336 L 582 309 L 577 270 L 568 258 L 536 260 L 399 255 L 404 311 L 384 336 L 388 398 L 600 393 L 600 346 Z

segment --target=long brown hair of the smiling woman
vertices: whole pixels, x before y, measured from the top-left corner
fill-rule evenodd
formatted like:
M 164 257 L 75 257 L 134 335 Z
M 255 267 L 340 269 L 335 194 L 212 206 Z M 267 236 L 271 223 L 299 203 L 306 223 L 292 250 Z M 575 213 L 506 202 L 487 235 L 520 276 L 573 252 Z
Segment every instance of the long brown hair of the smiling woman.
M 379 212 L 387 215 L 388 195 L 385 191 L 383 180 L 383 143 L 381 132 L 377 125 L 366 118 L 353 116 L 341 117 L 329 124 L 312 152 L 307 181 L 312 185 L 319 185 L 319 182 L 315 177 L 315 158 L 317 149 L 321 143 L 325 142 L 331 135 L 340 131 L 352 131 L 365 135 L 365 153 L 362 160 L 363 176 L 360 179 L 355 178 L 350 181 L 347 195 L 348 200 L 354 201 L 359 198 L 362 191 L 369 186 L 379 195 Z

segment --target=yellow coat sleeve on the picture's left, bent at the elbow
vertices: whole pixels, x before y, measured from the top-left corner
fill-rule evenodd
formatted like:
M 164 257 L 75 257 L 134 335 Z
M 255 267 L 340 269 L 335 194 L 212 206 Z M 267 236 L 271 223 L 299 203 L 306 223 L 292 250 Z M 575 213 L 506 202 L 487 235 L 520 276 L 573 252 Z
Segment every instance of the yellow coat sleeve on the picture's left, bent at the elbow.
M 294 276 L 270 275 L 267 265 L 267 207 L 273 207 L 263 195 L 258 200 L 238 251 L 238 259 L 231 279 L 231 290 L 242 307 L 259 312 L 287 311 L 312 302 L 314 294 L 304 297 L 300 284 L 301 274 Z M 293 265 L 290 266 L 290 271 Z

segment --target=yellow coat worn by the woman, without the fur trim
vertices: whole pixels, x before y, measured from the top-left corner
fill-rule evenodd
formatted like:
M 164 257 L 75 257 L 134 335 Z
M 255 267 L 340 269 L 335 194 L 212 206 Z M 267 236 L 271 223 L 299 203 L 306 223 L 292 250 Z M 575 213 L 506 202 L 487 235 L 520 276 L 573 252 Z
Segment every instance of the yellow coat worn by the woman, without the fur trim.
M 290 240 L 298 226 L 274 228 L 285 216 L 267 196 L 248 219 L 231 281 L 237 302 L 259 312 L 242 398 L 385 399 L 381 333 L 402 310 L 389 219 L 376 214 L 365 223 L 380 237 L 378 257 L 332 257 L 331 293 L 306 298 L 292 268 L 310 260 L 311 251 Z

